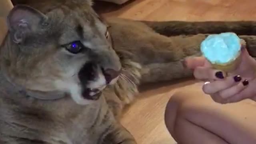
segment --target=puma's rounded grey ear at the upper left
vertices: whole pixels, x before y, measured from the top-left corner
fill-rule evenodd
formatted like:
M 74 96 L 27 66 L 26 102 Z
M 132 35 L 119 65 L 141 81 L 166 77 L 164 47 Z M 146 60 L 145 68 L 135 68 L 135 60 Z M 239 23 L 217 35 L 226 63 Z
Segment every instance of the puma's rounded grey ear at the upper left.
M 25 5 L 16 5 L 7 16 L 7 24 L 14 42 L 20 43 L 30 32 L 45 25 L 47 16 Z

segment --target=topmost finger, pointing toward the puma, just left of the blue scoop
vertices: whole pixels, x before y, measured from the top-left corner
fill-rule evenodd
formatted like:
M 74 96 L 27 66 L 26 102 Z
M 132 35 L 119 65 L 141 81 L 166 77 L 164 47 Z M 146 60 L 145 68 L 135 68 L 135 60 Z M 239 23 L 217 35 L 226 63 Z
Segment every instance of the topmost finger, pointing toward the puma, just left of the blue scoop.
M 184 60 L 184 65 L 187 68 L 195 69 L 198 66 L 204 66 L 205 58 L 204 57 L 192 57 L 186 58 Z

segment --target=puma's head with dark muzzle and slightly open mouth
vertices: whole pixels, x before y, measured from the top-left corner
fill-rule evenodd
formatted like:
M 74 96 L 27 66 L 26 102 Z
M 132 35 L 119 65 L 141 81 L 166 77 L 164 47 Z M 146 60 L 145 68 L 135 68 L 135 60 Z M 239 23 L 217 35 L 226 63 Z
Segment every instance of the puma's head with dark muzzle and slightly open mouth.
M 120 60 L 91 1 L 56 1 L 10 11 L 1 68 L 26 90 L 64 92 L 89 104 L 116 81 Z

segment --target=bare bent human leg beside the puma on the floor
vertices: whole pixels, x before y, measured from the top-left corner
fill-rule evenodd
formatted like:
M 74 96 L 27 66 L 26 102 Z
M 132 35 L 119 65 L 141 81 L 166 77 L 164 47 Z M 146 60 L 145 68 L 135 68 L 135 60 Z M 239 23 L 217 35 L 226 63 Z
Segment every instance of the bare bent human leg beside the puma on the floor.
M 218 104 L 196 84 L 181 88 L 166 106 L 170 134 L 181 144 L 255 144 L 256 102 Z

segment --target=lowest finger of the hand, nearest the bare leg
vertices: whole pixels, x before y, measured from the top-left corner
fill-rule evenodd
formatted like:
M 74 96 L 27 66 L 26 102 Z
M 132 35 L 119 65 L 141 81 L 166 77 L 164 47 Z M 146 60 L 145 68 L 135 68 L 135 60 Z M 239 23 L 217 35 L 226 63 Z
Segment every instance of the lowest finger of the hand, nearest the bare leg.
M 240 93 L 242 90 L 244 90 L 247 87 L 247 85 L 245 85 L 246 81 L 247 80 L 240 82 L 237 85 L 232 86 L 231 88 L 222 90 L 222 91 L 218 92 L 218 95 L 223 99 L 230 98 L 230 97 Z

